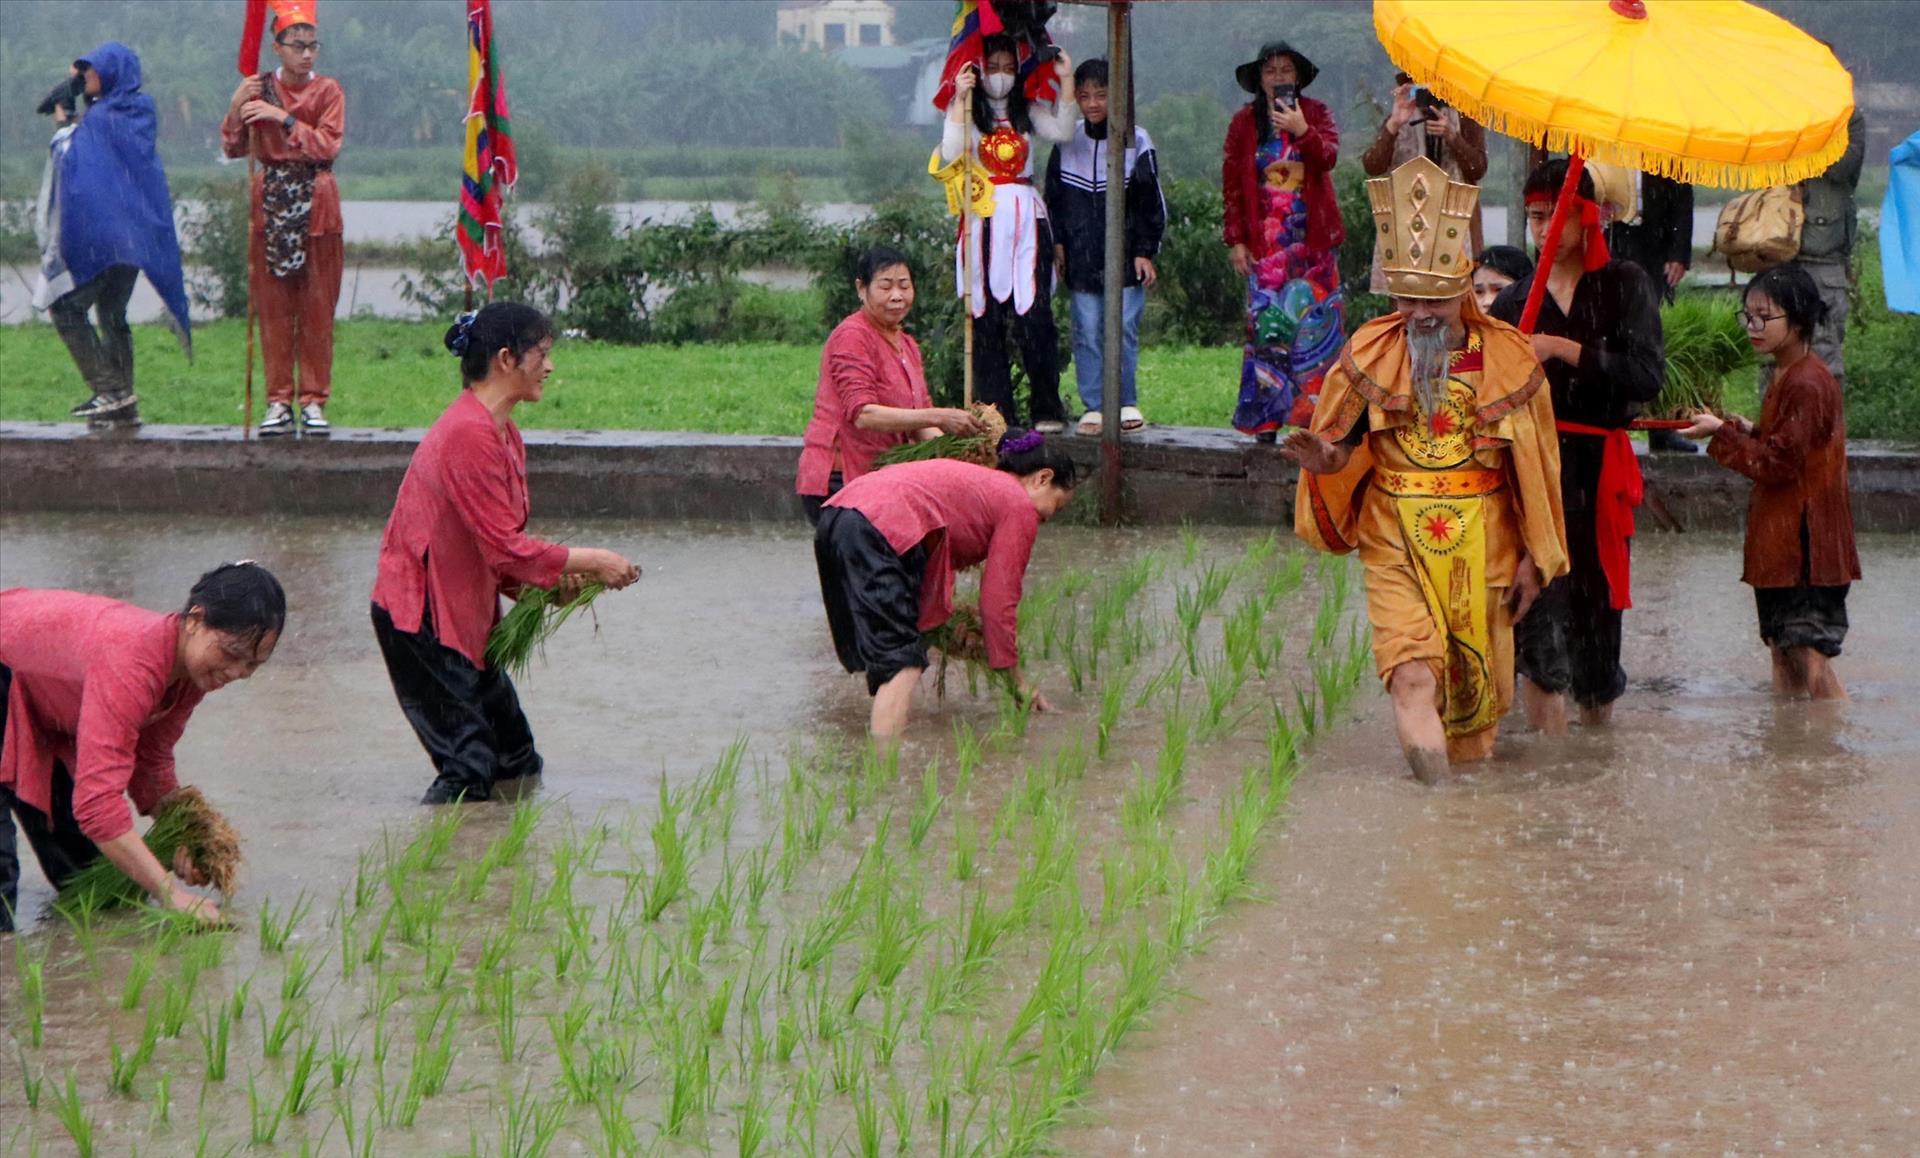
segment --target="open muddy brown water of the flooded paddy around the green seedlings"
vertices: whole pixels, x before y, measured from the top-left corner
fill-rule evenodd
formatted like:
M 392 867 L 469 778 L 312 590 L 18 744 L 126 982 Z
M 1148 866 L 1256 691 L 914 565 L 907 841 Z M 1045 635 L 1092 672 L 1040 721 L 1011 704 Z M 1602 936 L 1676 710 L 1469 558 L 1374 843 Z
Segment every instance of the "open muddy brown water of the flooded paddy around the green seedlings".
M 242 910 L 300 891 L 324 905 L 382 826 L 420 816 L 424 757 L 365 618 L 376 522 L 8 517 L 0 530 L 0 586 L 167 607 L 234 557 L 288 582 L 276 659 L 211 697 L 179 749 L 182 778 L 248 835 Z M 547 791 L 576 810 L 645 805 L 662 772 L 689 778 L 741 734 L 778 755 L 864 722 L 797 530 L 541 530 L 645 567 L 601 603 L 597 634 L 570 628 L 522 684 Z M 1035 576 L 1169 543 L 1048 530 Z M 1738 557 L 1732 536 L 1642 540 L 1634 684 L 1609 732 L 1509 736 L 1473 778 L 1427 791 L 1404 776 L 1384 701 L 1363 695 L 1267 837 L 1263 901 L 1213 926 L 1179 970 L 1183 997 L 1108 1062 L 1060 1146 L 1920 1152 L 1920 545 L 1862 542 L 1839 668 L 1855 701 L 1837 711 L 1766 693 Z M 924 716 L 929 732 L 954 718 L 993 714 L 950 697 Z M 1050 726 L 1037 720 L 1035 749 Z M 1244 755 L 1202 757 L 1194 776 L 1223 785 Z M 46 887 L 23 868 L 33 906 Z M 252 939 L 234 953 L 238 970 Z M 50 1035 L 98 1016 L 50 993 Z M 0 1118 L 21 1110 L 15 1070 L 0 1058 Z M 468 1104 L 484 1116 L 486 1093 Z

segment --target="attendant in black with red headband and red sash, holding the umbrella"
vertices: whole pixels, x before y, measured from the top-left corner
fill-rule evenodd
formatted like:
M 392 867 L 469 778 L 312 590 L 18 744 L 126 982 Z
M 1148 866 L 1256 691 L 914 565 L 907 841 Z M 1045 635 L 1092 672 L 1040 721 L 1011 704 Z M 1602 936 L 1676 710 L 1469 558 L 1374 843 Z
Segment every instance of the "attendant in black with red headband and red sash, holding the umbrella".
M 1538 248 L 1567 161 L 1548 161 L 1524 186 L 1526 225 Z M 1572 568 L 1548 584 L 1534 611 L 1515 624 L 1523 701 L 1546 732 L 1567 726 L 1567 693 L 1588 724 L 1605 724 L 1626 691 L 1620 668 L 1620 613 L 1632 607 L 1628 540 L 1640 503 L 1640 467 L 1626 424 L 1661 392 L 1667 353 L 1653 280 L 1626 261 L 1611 261 L 1601 234 L 1594 182 L 1567 217 L 1557 255 L 1507 286 L 1494 317 L 1519 325 L 1534 278 L 1548 292 L 1534 325 L 1534 353 L 1553 392 L 1561 446 L 1561 501 Z

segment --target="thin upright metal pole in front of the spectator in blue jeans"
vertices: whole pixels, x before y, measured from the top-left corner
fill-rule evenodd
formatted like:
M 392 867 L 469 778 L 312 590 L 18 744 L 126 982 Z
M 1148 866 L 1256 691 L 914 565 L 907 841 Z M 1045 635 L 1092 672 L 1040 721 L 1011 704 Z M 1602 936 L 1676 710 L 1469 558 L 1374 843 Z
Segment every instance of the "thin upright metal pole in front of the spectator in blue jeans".
M 1133 144 L 1133 4 L 1106 10 L 1106 263 L 1100 269 L 1100 522 L 1119 524 L 1119 355 L 1127 286 L 1127 146 Z M 1071 81 L 1069 81 L 1071 83 Z

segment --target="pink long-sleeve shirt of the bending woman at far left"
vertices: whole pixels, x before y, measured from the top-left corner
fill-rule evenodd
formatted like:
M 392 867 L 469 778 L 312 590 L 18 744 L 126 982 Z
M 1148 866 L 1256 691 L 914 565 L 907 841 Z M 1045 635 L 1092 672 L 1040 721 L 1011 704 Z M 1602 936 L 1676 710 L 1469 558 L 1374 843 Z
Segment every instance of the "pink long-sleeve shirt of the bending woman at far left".
M 173 680 L 179 628 L 179 615 L 106 595 L 0 591 L 0 663 L 13 672 L 0 785 L 52 814 L 60 760 L 86 839 L 132 832 L 127 797 L 144 816 L 175 789 L 173 745 L 202 697 Z

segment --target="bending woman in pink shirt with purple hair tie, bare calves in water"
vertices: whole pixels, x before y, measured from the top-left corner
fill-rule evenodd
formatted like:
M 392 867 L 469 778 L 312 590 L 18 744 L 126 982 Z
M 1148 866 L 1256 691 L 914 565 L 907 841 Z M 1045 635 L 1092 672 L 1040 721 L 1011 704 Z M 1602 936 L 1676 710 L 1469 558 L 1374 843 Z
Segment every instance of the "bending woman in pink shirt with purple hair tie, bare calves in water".
M 1073 459 L 1041 434 L 1008 430 L 1000 467 L 952 459 L 899 463 L 849 482 L 820 511 L 814 559 L 833 649 L 866 672 L 872 734 L 906 730 L 927 668 L 920 632 L 954 611 L 954 572 L 985 565 L 979 616 L 987 661 L 1014 676 L 1037 711 L 1046 699 L 1020 672 L 1020 586 L 1041 524 L 1073 497 Z

